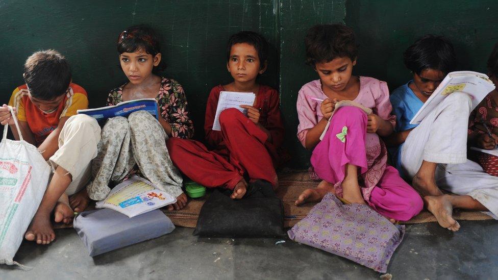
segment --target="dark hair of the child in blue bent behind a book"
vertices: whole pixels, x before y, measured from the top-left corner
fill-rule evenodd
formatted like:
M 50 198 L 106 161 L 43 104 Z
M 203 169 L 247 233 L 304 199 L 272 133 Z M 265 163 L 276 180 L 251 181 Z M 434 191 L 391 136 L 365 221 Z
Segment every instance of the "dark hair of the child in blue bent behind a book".
M 419 75 L 426 69 L 447 74 L 457 67 L 457 56 L 451 41 L 443 36 L 426 35 L 409 46 L 403 54 L 408 69 Z

